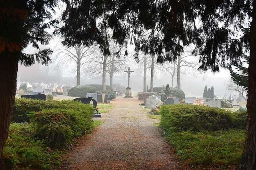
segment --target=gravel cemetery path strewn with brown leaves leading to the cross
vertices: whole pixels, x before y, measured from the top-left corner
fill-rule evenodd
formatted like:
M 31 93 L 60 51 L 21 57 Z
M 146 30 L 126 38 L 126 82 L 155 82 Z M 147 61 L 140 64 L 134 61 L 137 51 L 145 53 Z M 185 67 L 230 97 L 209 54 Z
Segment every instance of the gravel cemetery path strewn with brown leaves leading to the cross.
M 176 170 L 179 164 L 138 98 L 117 98 L 104 124 L 82 137 L 64 165 L 73 170 Z

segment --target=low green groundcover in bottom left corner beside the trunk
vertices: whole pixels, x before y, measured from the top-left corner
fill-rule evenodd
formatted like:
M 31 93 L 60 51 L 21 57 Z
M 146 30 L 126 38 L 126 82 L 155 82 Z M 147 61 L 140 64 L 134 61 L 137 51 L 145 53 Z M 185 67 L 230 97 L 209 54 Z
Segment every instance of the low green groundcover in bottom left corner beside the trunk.
M 34 138 L 34 129 L 28 123 L 11 123 L 4 145 L 4 169 L 50 170 L 61 164 L 61 152 L 52 150 L 43 141 Z

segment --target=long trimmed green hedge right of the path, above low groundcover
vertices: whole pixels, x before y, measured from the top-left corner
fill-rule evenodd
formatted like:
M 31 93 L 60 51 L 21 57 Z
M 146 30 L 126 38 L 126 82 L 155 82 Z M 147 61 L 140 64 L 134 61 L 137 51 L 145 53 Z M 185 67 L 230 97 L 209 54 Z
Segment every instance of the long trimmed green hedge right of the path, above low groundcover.
M 240 122 L 230 111 L 198 105 L 164 105 L 160 114 L 160 125 L 168 131 L 217 131 L 240 127 L 240 124 L 246 123 L 244 119 L 240 119 Z

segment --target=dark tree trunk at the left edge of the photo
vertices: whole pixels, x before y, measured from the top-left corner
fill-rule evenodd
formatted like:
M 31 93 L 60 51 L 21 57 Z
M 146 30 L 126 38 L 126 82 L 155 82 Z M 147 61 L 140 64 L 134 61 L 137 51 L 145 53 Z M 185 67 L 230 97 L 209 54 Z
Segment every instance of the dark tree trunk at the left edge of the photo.
M 12 121 L 16 93 L 18 57 L 0 54 L 0 169 L 3 169 L 2 158 L 4 142 L 8 137 Z

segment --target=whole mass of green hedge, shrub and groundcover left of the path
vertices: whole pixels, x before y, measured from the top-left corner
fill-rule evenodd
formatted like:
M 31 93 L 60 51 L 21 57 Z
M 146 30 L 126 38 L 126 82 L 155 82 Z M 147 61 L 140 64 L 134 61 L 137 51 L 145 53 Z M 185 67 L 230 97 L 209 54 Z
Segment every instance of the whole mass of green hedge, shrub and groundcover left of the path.
M 61 151 L 93 129 L 94 108 L 78 101 L 43 101 L 19 98 L 4 146 L 5 169 L 52 169 Z M 26 121 L 26 122 L 24 122 Z

